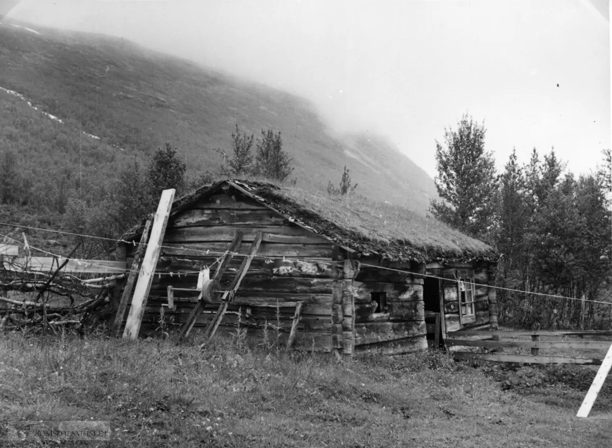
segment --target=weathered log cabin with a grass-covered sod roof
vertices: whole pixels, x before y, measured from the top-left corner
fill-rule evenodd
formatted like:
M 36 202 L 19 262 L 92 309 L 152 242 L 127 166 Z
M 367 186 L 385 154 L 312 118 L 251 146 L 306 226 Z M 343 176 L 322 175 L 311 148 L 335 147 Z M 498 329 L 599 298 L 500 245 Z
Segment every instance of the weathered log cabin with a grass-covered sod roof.
M 118 259 L 131 263 L 132 242 L 142 233 L 140 226 L 121 238 Z M 497 323 L 495 291 L 488 287 L 496 253 L 483 242 L 363 196 L 224 180 L 174 201 L 140 334 L 159 330 L 160 319 L 165 328 L 184 327 L 198 302 L 198 273 L 213 275 L 231 244 L 236 255 L 216 303 L 204 306 L 192 334 L 211 322 L 223 289 L 252 249 L 219 332 L 278 343 L 291 336 L 294 346 L 351 357 L 420 351 L 449 331 Z

